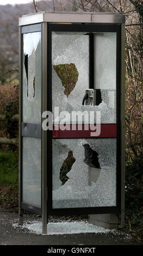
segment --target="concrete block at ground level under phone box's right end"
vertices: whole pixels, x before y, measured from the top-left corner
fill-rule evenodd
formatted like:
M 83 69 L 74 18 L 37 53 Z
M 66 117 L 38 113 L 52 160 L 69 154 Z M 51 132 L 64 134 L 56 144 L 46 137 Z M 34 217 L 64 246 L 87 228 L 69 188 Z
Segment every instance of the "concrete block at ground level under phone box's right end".
M 89 223 L 103 228 L 117 229 L 121 220 L 116 214 L 92 214 L 89 215 Z

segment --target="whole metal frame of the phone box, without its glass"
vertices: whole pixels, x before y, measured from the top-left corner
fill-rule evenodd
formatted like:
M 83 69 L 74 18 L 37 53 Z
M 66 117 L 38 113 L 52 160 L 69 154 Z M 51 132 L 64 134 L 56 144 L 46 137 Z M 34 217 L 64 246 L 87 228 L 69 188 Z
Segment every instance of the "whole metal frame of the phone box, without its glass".
M 54 14 L 53 14 L 54 15 Z M 61 14 L 62 15 L 62 14 Z M 64 15 L 64 14 L 63 14 Z M 35 16 L 35 15 L 34 15 Z M 103 17 L 103 15 L 101 15 Z M 116 16 L 116 15 L 115 15 Z M 30 16 L 29 16 L 30 17 Z M 84 16 L 85 17 L 85 16 Z M 121 19 L 122 16 L 120 16 Z M 21 18 L 22 19 L 22 18 Z M 26 20 L 26 17 L 24 17 Z M 51 21 L 52 22 L 52 21 Z M 58 21 L 57 21 L 58 22 Z M 106 21 L 107 22 L 107 21 Z M 121 22 L 121 23 L 120 23 Z M 48 22 L 21 26 L 20 20 L 20 67 L 22 67 L 22 34 L 41 31 L 42 40 L 42 100 L 41 109 L 52 111 L 52 31 L 60 32 L 116 32 L 116 106 L 117 106 L 117 169 L 116 169 L 116 206 L 95 208 L 52 209 L 52 131 L 38 129 L 26 134 L 22 122 L 22 68 L 20 69 L 20 161 L 19 161 L 19 223 L 23 222 L 23 211 L 28 210 L 42 215 L 42 231 L 46 233 L 49 215 L 71 214 L 111 214 L 121 216 L 121 225 L 125 218 L 125 24 L 119 23 L 72 23 L 55 24 Z M 91 49 L 90 49 L 91 56 Z M 92 63 L 92 62 L 91 62 Z M 92 67 L 90 69 L 92 76 Z M 90 78 L 91 79 L 91 78 Z M 91 79 L 92 81 L 92 79 Z M 42 116 L 42 115 L 41 115 Z M 41 118 L 42 123 L 42 118 Z M 28 125 L 28 124 L 26 124 Z M 34 124 L 36 126 L 36 124 Z M 35 127 L 34 126 L 34 127 Z M 29 124 L 33 127 L 33 124 Z M 39 124 L 38 124 L 39 128 Z M 34 131 L 34 129 L 33 129 Z M 41 138 L 41 208 L 22 201 L 22 136 Z M 98 138 L 96 138 L 98 139 Z

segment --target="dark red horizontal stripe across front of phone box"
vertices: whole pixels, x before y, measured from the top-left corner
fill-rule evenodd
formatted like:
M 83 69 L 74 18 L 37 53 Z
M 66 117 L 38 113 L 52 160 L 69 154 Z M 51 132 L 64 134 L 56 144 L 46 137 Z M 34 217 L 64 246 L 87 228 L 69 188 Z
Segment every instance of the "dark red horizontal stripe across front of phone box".
M 98 125 L 95 126 L 97 127 Z M 66 128 L 68 130 L 64 130 L 64 125 L 60 125 L 60 129 L 59 125 L 53 125 L 53 138 L 116 138 L 117 136 L 116 124 L 101 124 L 101 132 L 98 136 L 91 136 L 91 133 L 96 132 L 96 130 L 92 131 L 89 125 L 86 125 L 87 131 L 84 130 L 84 125 L 80 125 L 80 130 L 78 125 L 66 125 Z

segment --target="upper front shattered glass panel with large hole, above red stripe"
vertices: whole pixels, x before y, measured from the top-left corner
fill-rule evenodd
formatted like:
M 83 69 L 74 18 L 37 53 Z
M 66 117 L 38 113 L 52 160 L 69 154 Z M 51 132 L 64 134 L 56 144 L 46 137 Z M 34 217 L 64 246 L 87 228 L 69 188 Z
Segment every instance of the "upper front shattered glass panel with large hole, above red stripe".
M 52 107 L 61 111 L 101 112 L 102 124 L 116 123 L 116 33 L 95 33 L 95 88 L 98 105 L 82 105 L 89 89 L 89 35 L 52 32 Z M 58 115 L 54 115 L 56 123 Z M 63 120 L 64 115 L 60 116 Z M 68 121 L 67 121 L 68 123 Z

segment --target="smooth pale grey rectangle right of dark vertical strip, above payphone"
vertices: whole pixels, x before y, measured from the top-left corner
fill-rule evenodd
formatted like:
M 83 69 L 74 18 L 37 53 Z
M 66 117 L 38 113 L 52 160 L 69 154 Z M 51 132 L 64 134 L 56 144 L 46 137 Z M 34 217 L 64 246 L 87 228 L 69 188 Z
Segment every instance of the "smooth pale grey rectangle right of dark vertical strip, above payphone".
M 94 34 L 95 89 L 116 89 L 116 33 Z

